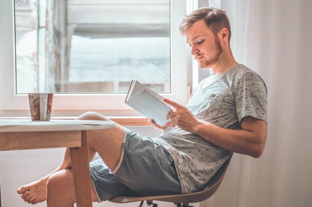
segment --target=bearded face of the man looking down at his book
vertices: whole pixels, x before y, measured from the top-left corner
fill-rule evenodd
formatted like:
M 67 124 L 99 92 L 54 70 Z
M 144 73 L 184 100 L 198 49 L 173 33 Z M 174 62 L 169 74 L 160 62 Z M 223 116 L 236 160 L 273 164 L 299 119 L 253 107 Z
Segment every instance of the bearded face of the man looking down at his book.
M 208 29 L 204 20 L 196 21 L 187 29 L 186 42 L 200 68 L 211 68 L 220 60 L 223 52 L 220 39 Z

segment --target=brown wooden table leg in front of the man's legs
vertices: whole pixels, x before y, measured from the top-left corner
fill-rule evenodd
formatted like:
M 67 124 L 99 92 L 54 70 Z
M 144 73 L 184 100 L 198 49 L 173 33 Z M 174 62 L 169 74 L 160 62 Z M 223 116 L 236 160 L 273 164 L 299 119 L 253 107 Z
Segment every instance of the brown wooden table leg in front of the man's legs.
M 71 147 L 70 157 L 77 207 L 92 207 L 87 132 L 81 131 L 81 147 Z

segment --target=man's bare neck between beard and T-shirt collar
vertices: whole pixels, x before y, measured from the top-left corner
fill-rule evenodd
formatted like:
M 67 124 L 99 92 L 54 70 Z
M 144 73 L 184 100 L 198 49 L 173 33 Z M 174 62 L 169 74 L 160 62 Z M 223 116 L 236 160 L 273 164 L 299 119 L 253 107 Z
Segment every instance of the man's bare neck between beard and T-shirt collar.
M 223 52 L 219 61 L 210 68 L 213 75 L 223 75 L 237 64 L 238 62 L 234 59 L 231 51 L 227 51 Z

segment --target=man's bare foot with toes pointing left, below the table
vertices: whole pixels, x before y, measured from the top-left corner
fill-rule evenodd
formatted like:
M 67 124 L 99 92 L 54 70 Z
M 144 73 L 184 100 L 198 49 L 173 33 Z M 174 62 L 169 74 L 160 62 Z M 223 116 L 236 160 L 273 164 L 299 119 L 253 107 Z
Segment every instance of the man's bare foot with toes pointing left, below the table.
M 28 204 L 37 204 L 46 200 L 46 183 L 47 179 L 41 179 L 17 189 L 21 198 Z

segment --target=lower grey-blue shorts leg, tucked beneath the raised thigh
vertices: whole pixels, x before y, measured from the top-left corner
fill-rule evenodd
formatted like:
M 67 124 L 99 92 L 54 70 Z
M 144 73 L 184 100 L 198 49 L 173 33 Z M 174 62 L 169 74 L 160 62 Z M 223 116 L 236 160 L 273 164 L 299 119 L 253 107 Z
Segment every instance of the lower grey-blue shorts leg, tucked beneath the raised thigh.
M 110 173 L 110 169 L 101 158 L 90 163 L 90 172 L 98 202 L 107 201 L 117 196 L 137 196 Z

